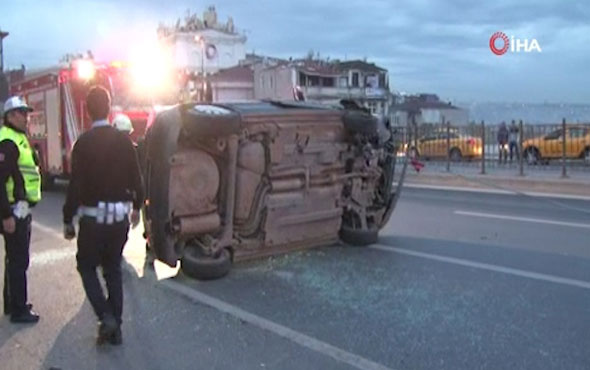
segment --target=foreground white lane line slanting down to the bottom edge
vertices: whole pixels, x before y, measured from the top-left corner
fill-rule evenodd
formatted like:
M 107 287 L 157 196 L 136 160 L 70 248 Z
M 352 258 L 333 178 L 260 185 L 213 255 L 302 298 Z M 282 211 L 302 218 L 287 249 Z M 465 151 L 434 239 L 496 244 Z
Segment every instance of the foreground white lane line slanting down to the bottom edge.
M 352 367 L 357 369 L 370 369 L 370 370 L 387 370 L 388 367 L 384 365 L 378 364 L 371 360 L 368 360 L 364 357 L 355 355 L 354 353 L 347 352 L 343 349 L 335 347 L 331 344 L 326 342 L 322 342 L 318 339 L 312 338 L 308 335 L 303 333 L 297 332 L 295 330 L 289 329 L 283 325 L 277 324 L 272 322 L 268 319 L 263 317 L 257 316 L 250 312 L 244 311 L 243 309 L 233 306 L 229 303 L 221 301 L 217 298 L 211 297 L 207 294 L 201 293 L 196 291 L 192 288 L 189 288 L 181 283 L 178 283 L 173 280 L 162 280 L 161 284 L 165 285 L 169 289 L 182 294 L 185 297 L 188 297 L 194 301 L 200 302 L 207 306 L 213 307 L 221 312 L 229 314 L 233 317 L 236 317 L 242 321 L 248 322 L 254 326 L 259 327 L 260 329 L 272 332 L 280 337 L 286 338 L 290 341 L 293 341 L 303 347 L 316 351 L 318 353 L 324 354 L 329 356 L 337 361 L 346 363 Z

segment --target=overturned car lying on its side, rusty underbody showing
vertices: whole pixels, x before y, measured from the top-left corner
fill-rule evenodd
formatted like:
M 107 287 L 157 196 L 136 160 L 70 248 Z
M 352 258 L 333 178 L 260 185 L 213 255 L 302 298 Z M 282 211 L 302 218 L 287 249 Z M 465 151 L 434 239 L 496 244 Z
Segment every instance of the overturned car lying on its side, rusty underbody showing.
M 143 148 L 148 247 L 191 277 L 214 279 L 236 260 L 374 243 L 403 182 L 393 188 L 397 146 L 351 103 L 162 111 Z

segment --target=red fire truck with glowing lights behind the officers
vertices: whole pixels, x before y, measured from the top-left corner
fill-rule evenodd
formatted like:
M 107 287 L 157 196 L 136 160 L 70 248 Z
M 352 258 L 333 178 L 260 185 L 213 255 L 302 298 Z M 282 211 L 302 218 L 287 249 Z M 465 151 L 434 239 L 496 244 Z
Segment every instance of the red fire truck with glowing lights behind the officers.
M 150 108 L 130 103 L 125 96 L 126 75 L 127 70 L 120 63 L 99 64 L 82 58 L 67 65 L 33 71 L 10 86 L 11 95 L 23 96 L 34 109 L 28 133 L 46 187 L 56 178 L 68 177 L 73 145 L 92 124 L 85 107 L 91 86 L 100 85 L 110 92 L 111 116 L 117 113 L 129 116 L 134 126 L 132 139 L 143 135 Z

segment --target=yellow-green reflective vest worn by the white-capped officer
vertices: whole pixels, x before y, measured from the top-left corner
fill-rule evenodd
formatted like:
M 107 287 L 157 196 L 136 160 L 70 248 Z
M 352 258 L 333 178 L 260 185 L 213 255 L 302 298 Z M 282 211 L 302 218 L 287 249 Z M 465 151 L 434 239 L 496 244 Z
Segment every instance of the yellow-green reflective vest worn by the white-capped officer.
M 41 200 L 41 173 L 35 163 L 33 149 L 29 144 L 27 135 L 8 126 L 0 128 L 0 142 L 11 140 L 18 148 L 18 169 L 20 170 L 25 186 L 26 198 L 29 202 L 37 203 Z M 9 177 L 6 181 L 6 193 L 8 201 L 14 203 L 14 180 Z

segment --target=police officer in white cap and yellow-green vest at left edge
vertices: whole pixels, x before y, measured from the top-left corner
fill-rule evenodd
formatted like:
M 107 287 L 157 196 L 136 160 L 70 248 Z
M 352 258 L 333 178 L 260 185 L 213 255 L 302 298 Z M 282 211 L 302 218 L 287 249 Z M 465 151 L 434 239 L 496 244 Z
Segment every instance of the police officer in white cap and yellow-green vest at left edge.
M 14 323 L 36 323 L 39 315 L 27 303 L 27 269 L 31 241 L 29 208 L 41 200 L 41 175 L 26 135 L 32 109 L 19 97 L 4 103 L 0 128 L 0 212 L 6 247 L 4 314 Z

